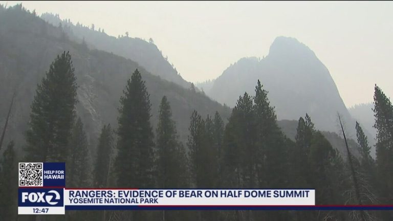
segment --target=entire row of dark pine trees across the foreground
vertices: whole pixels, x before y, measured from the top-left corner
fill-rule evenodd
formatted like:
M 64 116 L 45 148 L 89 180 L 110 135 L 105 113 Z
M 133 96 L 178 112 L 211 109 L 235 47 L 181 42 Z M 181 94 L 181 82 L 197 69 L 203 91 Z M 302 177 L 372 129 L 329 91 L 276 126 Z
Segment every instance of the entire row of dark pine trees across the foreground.
M 123 188 L 315 188 L 316 205 L 393 204 L 393 106 L 375 85 L 377 158 L 356 123 L 360 157 L 340 156 L 311 116 L 298 120 L 295 140 L 277 125 L 260 81 L 255 94 L 239 96 L 225 125 L 218 112 L 190 116 L 186 145 L 180 142 L 170 103 L 162 97 L 156 129 L 141 73 L 126 82 L 118 126 L 101 129 L 90 152 L 75 111 L 76 76 L 63 52 L 38 83 L 24 148 L 26 162 L 66 162 L 72 187 Z M 344 145 L 344 144 L 343 144 Z M 92 157 L 95 156 L 95 157 Z M 17 159 L 10 142 L 1 162 L 2 217 L 16 220 Z M 351 163 L 351 164 L 350 164 Z M 355 179 L 354 179 L 355 178 Z M 354 182 L 356 181 L 356 182 Z M 9 199 L 12 203 L 10 203 Z M 24 216 L 20 220 L 51 220 Z M 392 220 L 378 211 L 67 211 L 65 220 Z

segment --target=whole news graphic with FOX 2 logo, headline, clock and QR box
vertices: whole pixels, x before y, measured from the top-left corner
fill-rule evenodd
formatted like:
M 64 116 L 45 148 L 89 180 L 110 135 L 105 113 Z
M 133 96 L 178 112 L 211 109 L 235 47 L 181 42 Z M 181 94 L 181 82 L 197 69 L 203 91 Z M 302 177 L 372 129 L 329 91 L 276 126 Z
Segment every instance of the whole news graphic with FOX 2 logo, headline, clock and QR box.
M 315 189 L 68 189 L 65 163 L 19 163 L 18 214 L 269 206 L 315 206 Z

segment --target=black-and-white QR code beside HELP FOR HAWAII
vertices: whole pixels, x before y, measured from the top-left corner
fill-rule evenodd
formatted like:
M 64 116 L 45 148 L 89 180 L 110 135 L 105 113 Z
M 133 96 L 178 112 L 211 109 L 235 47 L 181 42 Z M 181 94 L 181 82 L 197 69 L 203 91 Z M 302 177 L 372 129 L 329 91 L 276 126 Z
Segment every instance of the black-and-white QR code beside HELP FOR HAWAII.
M 19 163 L 19 187 L 42 186 L 42 163 Z

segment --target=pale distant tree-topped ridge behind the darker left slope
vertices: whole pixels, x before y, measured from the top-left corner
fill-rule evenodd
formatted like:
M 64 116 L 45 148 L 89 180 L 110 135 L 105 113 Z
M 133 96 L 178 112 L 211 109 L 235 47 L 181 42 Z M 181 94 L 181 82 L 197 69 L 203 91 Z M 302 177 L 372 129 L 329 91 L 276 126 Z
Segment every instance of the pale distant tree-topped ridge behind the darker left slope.
M 41 18 L 55 27 L 60 25 L 67 36 L 75 42 L 84 40 L 89 48 L 113 52 L 116 55 L 129 58 L 138 62 L 151 74 L 177 83 L 186 89 L 190 87 L 191 83 L 178 74 L 176 68 L 168 62 L 167 58 L 163 57 L 154 42 L 128 36 L 116 38 L 107 35 L 102 30 L 98 31 L 79 23 L 74 25 L 69 19 L 61 20 L 59 15 L 51 13 L 44 13 Z

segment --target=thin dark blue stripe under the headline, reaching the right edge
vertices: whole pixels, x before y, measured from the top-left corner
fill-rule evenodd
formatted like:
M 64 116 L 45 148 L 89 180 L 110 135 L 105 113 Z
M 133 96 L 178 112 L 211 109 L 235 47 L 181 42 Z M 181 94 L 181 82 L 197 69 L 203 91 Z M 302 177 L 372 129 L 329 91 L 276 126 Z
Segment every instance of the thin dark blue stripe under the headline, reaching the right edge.
M 393 210 L 393 205 L 321 206 L 65 206 L 65 210 Z

